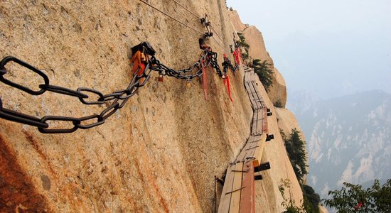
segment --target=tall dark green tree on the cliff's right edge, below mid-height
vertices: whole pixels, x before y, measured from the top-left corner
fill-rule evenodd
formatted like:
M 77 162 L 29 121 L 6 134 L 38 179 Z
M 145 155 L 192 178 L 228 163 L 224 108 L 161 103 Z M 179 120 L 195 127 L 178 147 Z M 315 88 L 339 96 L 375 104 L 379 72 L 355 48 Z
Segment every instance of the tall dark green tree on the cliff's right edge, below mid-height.
M 291 160 L 297 180 L 303 182 L 304 175 L 308 174 L 306 167 L 306 142 L 301 139 L 300 131 L 291 130 L 289 138 L 285 141 L 286 152 Z

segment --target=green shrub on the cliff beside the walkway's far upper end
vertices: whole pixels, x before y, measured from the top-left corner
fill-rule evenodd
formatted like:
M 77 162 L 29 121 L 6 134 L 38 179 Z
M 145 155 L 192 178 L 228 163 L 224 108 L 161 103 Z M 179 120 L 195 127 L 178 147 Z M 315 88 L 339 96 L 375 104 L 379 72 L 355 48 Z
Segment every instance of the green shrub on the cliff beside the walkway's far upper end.
M 267 60 L 261 62 L 259 59 L 252 61 L 252 67 L 254 67 L 255 73 L 257 73 L 259 80 L 262 82 L 266 92 L 269 92 L 269 88 L 272 87 L 273 70 L 272 64 L 268 63 Z

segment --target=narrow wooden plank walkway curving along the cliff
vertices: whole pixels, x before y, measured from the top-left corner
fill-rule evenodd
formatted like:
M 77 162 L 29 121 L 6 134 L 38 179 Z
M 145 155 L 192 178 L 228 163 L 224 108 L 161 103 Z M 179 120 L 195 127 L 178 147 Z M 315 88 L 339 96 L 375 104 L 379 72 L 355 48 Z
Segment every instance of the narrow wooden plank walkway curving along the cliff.
M 245 89 L 254 111 L 250 136 L 237 155 L 234 163 L 227 168 L 218 212 L 254 212 L 255 183 L 254 169 L 259 166 L 267 139 L 267 107 L 257 89 L 254 70 L 245 70 Z

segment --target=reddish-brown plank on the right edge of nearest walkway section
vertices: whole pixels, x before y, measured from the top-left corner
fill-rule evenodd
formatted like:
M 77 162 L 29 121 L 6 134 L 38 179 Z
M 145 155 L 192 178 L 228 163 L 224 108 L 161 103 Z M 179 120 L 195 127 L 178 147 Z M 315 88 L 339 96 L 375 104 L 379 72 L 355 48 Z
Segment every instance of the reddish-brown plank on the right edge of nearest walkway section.
M 255 212 L 255 182 L 254 182 L 254 161 L 250 160 L 245 163 L 243 170 L 247 170 L 247 173 L 243 173 L 242 178 L 242 195 L 240 196 L 240 212 Z

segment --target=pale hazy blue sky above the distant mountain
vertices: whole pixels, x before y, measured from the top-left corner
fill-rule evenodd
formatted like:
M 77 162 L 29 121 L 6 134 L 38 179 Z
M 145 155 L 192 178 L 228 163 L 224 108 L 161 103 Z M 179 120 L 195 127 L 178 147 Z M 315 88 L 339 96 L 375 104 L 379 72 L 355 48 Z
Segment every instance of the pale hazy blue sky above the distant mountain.
M 391 0 L 227 0 L 255 25 L 288 92 L 391 93 Z

